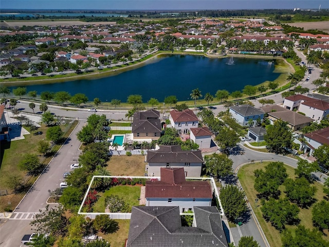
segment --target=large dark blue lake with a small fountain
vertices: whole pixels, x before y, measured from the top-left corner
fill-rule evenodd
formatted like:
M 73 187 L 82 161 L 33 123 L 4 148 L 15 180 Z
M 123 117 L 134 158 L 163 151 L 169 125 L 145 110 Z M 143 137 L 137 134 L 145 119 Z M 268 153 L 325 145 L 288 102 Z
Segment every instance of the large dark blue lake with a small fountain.
M 273 72 L 274 65 L 275 61 L 271 59 L 166 55 L 153 58 L 144 66 L 106 78 L 26 87 L 27 92 L 35 90 L 38 94 L 44 91 L 67 91 L 71 95 L 83 93 L 90 101 L 97 97 L 103 102 L 112 99 L 126 102 L 127 96 L 131 94 L 141 95 L 143 102 L 151 97 L 163 102 L 170 95 L 175 95 L 179 101 L 185 101 L 191 100 L 190 93 L 196 88 L 204 97 L 206 93 L 215 95 L 217 90 L 233 92 L 242 90 L 245 85 L 274 81 L 280 76 Z

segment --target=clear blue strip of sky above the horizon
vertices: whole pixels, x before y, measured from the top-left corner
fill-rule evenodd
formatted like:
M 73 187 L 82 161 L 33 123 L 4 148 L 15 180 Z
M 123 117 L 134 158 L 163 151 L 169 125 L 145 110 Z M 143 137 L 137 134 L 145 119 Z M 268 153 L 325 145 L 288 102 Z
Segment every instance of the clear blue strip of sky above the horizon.
M 3 9 L 198 10 L 329 9 L 328 0 L 0 0 Z

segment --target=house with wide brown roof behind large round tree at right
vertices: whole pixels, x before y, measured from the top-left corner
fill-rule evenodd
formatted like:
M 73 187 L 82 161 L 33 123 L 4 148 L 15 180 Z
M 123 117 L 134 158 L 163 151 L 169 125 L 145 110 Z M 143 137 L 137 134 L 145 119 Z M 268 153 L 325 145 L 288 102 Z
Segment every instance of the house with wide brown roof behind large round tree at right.
M 302 114 L 292 111 L 282 111 L 282 112 L 269 112 L 268 119 L 271 125 L 278 119 L 287 122 L 287 126 L 293 130 L 300 130 L 314 121 L 314 119 L 306 117 Z

